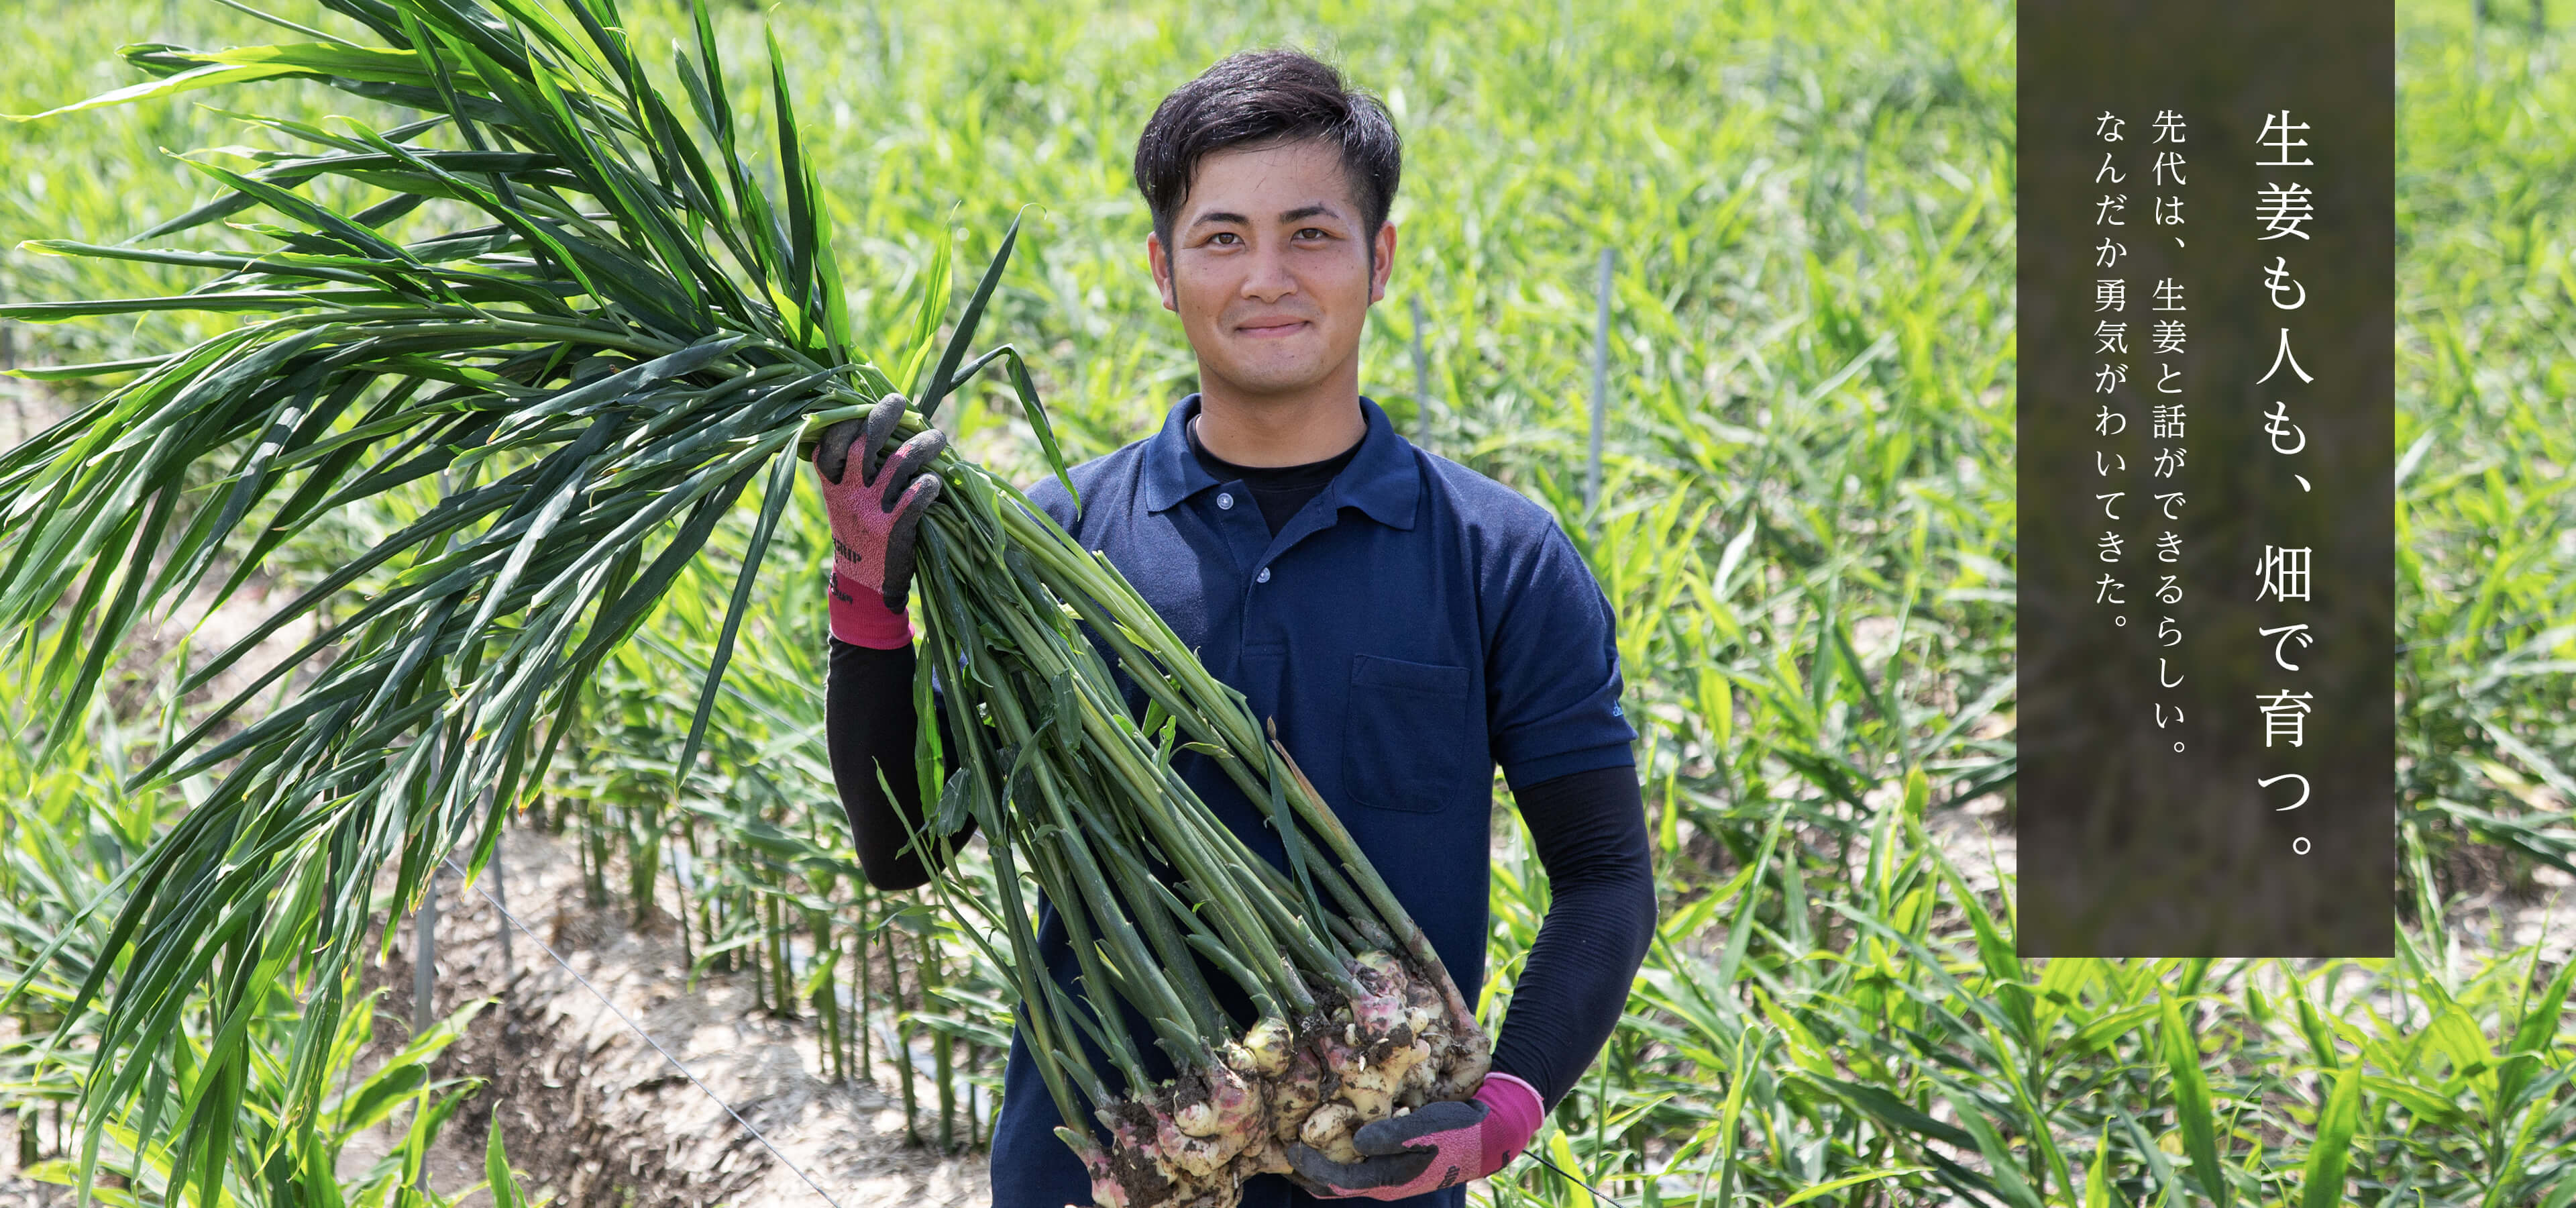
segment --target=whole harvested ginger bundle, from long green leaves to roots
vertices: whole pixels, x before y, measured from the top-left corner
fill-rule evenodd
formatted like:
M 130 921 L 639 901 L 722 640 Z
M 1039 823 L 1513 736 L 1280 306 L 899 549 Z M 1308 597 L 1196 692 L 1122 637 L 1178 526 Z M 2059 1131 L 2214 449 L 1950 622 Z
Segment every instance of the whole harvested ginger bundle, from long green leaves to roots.
M 716 525 L 742 520 L 757 482 L 677 760 L 693 768 L 804 458 L 824 425 L 896 394 L 855 353 L 775 46 L 778 196 L 744 157 L 703 3 L 696 44 L 667 59 L 634 44 L 616 0 L 322 5 L 337 31 L 276 21 L 289 39 L 273 46 L 126 46 L 152 80 L 67 108 L 294 82 L 412 116 L 376 129 L 234 113 L 276 147 L 183 157 L 214 191 L 204 206 L 118 245 L 33 245 L 206 281 L 0 307 L 26 322 L 242 319 L 188 348 L 28 373 L 124 379 L 0 453 L 0 626 L 49 646 L 36 693 L 59 706 L 49 729 L 77 731 L 131 626 L 206 574 L 224 572 L 222 603 L 350 505 L 407 518 L 183 667 L 173 701 L 289 623 L 317 628 L 137 773 L 214 788 L 155 840 L 108 950 L 90 953 L 100 971 L 149 976 L 90 976 L 54 1007 L 62 1028 L 98 1020 L 82 1038 L 98 1053 L 196 1043 L 173 1023 L 193 994 L 211 986 L 219 1012 L 242 1012 L 250 986 L 276 979 L 314 986 L 307 1033 L 335 1035 L 379 868 L 399 868 L 397 914 L 461 842 L 482 868 L 500 819 L 544 783 L 590 670 Z M 891 440 L 999 363 L 1072 489 L 1020 355 L 966 358 L 1015 234 L 945 343 L 940 242 L 896 355 L 917 402 Z M 974 878 L 945 860 L 938 891 L 1010 971 L 1015 1025 L 1097 1200 L 1224 1205 L 1244 1177 L 1285 1169 L 1288 1144 L 1352 1156 L 1360 1123 L 1476 1087 L 1486 1038 L 1437 953 L 1242 693 L 1015 487 L 956 451 L 933 471 L 945 492 L 917 546 L 914 701 L 948 711 L 958 750 L 920 726 L 922 798 L 938 801 L 922 842 L 945 847 L 969 816 L 987 835 Z M 1113 662 L 1144 693 L 1141 716 Z M 245 721 L 255 701 L 268 708 Z M 1278 865 L 1175 775 L 1175 750 L 1216 760 L 1267 811 Z M 1072 938 L 1072 986 L 1038 958 L 1043 912 Z M 93 997 L 103 1015 L 85 1010 Z M 1175 1071 L 1149 1074 L 1139 1043 Z M 139 1120 L 131 1146 L 160 1146 L 160 1169 L 209 1203 L 227 1177 L 278 1175 L 227 1169 L 258 1061 L 240 1028 L 219 1030 L 191 1051 L 185 1102 L 142 1084 L 152 1061 L 98 1061 L 80 1092 L 90 1154 L 108 1123 Z M 301 1041 L 283 1071 L 260 1069 L 291 1102 L 330 1092 L 327 1061 Z M 82 1180 L 95 1172 L 85 1159 Z

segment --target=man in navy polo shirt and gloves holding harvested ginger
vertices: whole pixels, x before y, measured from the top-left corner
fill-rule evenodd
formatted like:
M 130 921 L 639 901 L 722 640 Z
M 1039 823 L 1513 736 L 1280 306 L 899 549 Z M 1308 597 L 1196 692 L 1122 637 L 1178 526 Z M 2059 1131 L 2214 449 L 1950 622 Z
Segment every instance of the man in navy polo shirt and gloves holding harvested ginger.
M 1164 98 L 1136 144 L 1136 185 L 1154 214 L 1146 263 L 1200 389 L 1157 435 L 1072 469 L 1079 513 L 1054 479 L 1028 492 L 1278 721 L 1468 1002 L 1484 981 L 1497 765 L 1548 868 L 1553 901 L 1476 1097 L 1365 1126 L 1355 1164 L 1296 1146 L 1296 1175 L 1249 1180 L 1247 1208 L 1461 1205 L 1463 1182 L 1517 1156 L 1600 1053 L 1654 932 L 1636 731 L 1600 585 L 1548 513 L 1409 446 L 1360 397 L 1363 322 L 1396 255 L 1396 175 L 1394 124 L 1306 54 L 1236 54 Z M 896 415 L 837 425 L 817 451 L 835 528 L 832 770 L 881 889 L 927 878 L 896 816 L 922 816 L 902 605 L 912 525 L 938 495 L 920 466 L 943 443 L 933 430 L 881 448 Z M 1133 688 L 1128 703 L 1141 716 Z M 1280 858 L 1218 768 L 1182 755 L 1175 770 L 1252 850 Z M 1041 950 L 1069 984 L 1054 912 Z M 1015 1038 L 992 1138 L 997 1208 L 1090 1200 L 1056 1126 Z

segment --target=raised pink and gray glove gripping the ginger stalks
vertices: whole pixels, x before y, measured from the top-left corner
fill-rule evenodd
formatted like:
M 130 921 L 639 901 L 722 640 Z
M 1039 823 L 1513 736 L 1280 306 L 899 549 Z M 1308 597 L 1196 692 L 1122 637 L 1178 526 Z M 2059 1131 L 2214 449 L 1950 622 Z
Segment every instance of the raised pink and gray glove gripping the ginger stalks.
M 896 649 L 912 641 L 912 623 L 904 621 L 912 538 L 930 500 L 940 497 L 940 477 L 922 469 L 948 448 L 948 433 L 925 428 L 878 461 L 902 417 L 904 397 L 886 394 L 866 422 L 824 428 L 814 446 L 822 505 L 832 515 L 832 636 L 853 646 Z M 853 453 L 858 474 L 850 474 Z

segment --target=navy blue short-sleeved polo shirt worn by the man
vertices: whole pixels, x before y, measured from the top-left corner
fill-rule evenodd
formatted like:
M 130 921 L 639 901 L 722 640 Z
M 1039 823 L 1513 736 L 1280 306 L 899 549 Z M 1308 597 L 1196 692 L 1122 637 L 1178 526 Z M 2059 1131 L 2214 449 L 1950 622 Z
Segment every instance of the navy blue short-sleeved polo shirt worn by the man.
M 1476 1002 L 1494 768 L 1520 788 L 1636 762 L 1615 613 L 1543 507 L 1406 443 L 1373 399 L 1360 397 L 1360 448 L 1278 536 L 1242 482 L 1218 482 L 1190 453 L 1182 425 L 1198 394 L 1159 433 L 1072 466 L 1079 515 L 1054 477 L 1028 497 L 1103 551 L 1257 719 L 1275 719 L 1288 755 Z M 1144 695 L 1123 672 L 1121 690 L 1141 716 Z M 1255 853 L 1285 865 L 1262 811 L 1213 760 L 1185 752 L 1172 768 Z M 1038 945 L 1074 986 L 1051 909 Z M 1149 1033 L 1133 1030 L 1149 1071 L 1167 1074 Z M 1090 1200 L 1056 1123 L 1015 1035 L 992 1141 L 994 1208 Z M 1242 1203 L 1324 1200 L 1265 1175 Z M 1399 1203 L 1461 1205 L 1466 1193 Z

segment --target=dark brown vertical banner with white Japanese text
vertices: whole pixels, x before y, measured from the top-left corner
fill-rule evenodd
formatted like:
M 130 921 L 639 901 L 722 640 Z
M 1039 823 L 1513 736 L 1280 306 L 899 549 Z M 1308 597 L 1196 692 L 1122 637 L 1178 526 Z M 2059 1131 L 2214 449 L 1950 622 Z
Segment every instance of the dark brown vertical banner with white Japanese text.
M 2393 956 L 2391 5 L 2020 5 L 2020 953 Z

